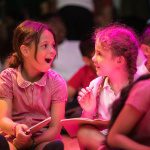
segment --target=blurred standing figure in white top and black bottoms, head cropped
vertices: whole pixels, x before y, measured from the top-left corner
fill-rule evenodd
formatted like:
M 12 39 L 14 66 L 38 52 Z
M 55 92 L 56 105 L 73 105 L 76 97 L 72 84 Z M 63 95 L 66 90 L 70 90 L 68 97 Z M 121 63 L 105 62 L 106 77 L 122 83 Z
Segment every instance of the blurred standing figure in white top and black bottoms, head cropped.
M 85 39 L 93 28 L 93 0 L 57 0 L 56 8 L 62 17 L 67 39 Z

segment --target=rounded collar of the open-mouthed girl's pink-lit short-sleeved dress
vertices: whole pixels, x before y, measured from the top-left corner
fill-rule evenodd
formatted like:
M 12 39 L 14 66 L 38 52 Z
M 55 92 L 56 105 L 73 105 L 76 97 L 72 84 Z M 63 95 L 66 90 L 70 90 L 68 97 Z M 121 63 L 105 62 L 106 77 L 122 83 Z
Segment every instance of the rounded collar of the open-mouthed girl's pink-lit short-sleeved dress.
M 47 79 L 47 73 L 44 73 L 44 75 L 42 76 L 42 78 L 34 83 L 25 80 L 22 77 L 21 74 L 21 66 L 18 67 L 18 72 L 17 72 L 17 83 L 21 88 L 26 88 L 28 86 L 30 86 L 31 84 L 36 84 L 38 86 L 45 86 L 46 85 L 46 79 Z

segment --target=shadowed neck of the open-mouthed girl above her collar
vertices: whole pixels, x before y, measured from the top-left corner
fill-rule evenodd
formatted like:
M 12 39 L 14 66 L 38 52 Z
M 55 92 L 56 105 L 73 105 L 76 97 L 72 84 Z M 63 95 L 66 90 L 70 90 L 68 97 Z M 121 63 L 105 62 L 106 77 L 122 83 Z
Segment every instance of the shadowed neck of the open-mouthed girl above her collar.
M 42 72 L 34 71 L 33 69 L 27 69 L 26 67 L 22 67 L 21 74 L 25 80 L 30 82 L 36 82 L 43 76 Z

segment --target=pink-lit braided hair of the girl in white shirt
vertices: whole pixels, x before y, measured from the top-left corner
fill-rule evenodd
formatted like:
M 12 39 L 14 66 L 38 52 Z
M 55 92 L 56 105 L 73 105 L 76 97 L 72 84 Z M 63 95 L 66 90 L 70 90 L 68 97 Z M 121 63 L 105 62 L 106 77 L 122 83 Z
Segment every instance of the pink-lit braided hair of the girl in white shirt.
M 95 31 L 95 40 L 108 47 L 114 56 L 123 56 L 127 63 L 129 82 L 133 81 L 137 71 L 136 59 L 139 42 L 135 32 L 122 24 L 112 24 Z

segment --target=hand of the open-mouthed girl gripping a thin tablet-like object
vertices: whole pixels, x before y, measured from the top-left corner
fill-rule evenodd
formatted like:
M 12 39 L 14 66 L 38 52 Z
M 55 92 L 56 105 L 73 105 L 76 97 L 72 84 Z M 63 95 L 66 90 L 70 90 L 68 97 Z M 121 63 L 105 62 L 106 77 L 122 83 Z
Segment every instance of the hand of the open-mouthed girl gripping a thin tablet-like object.
M 16 138 L 14 139 L 13 144 L 17 149 L 26 148 L 32 145 L 31 134 L 25 134 L 27 129 L 28 126 L 25 124 L 18 124 L 16 126 Z

